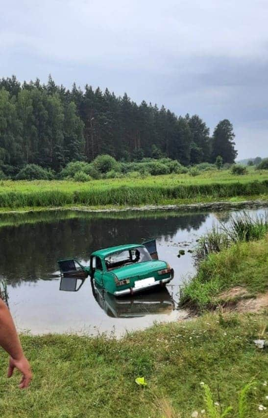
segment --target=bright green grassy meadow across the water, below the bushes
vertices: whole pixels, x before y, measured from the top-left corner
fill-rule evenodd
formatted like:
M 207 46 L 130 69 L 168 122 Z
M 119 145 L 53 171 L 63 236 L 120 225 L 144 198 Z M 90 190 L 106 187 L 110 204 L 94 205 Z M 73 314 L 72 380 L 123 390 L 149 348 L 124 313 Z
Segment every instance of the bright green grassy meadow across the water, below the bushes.
M 266 199 L 268 171 L 235 176 L 229 171 L 147 177 L 73 181 L 0 181 L 0 208 L 63 207 L 68 205 L 139 206 L 210 202 L 228 198 Z

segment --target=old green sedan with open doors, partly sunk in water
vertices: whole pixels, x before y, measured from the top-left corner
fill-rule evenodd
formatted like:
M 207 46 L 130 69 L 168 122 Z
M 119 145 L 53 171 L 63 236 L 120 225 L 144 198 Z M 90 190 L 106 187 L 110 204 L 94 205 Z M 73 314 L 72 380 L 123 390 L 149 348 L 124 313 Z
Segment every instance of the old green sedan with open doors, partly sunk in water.
M 63 275 L 89 274 L 98 286 L 114 296 L 164 286 L 174 274 L 168 263 L 158 260 L 155 240 L 94 251 L 89 267 L 82 266 L 76 259 L 58 263 Z

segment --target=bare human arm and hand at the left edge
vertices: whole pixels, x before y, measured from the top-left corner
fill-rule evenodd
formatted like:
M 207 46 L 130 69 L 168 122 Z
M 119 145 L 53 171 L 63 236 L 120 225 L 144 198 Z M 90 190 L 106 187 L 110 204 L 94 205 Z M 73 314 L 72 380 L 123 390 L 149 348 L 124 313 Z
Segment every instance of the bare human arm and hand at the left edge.
M 2 299 L 0 299 L 0 346 L 10 355 L 7 377 L 12 376 L 16 367 L 23 375 L 19 388 L 27 388 L 32 379 L 30 365 L 24 356 L 12 316 Z

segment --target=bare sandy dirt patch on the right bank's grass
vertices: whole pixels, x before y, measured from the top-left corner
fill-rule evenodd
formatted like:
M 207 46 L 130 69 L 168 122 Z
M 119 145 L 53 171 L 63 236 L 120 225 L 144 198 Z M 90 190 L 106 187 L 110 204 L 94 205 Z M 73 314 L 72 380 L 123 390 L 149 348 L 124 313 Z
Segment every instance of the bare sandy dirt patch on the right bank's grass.
M 268 309 L 268 292 L 250 297 L 243 286 L 234 286 L 228 289 L 221 293 L 218 299 L 226 301 L 224 311 L 259 312 Z

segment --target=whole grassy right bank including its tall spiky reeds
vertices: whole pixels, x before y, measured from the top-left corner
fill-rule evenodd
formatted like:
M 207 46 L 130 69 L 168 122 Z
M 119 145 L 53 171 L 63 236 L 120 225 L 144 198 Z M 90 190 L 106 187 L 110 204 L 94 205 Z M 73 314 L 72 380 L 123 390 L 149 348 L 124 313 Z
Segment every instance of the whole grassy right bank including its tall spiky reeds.
M 222 292 L 243 286 L 246 297 L 268 291 L 267 219 L 234 220 L 234 228 L 212 231 L 199 242 L 197 274 L 181 289 L 181 306 L 202 311 L 224 304 Z M 235 301 L 235 300 L 233 300 Z M 231 300 L 229 300 L 231 302 Z

